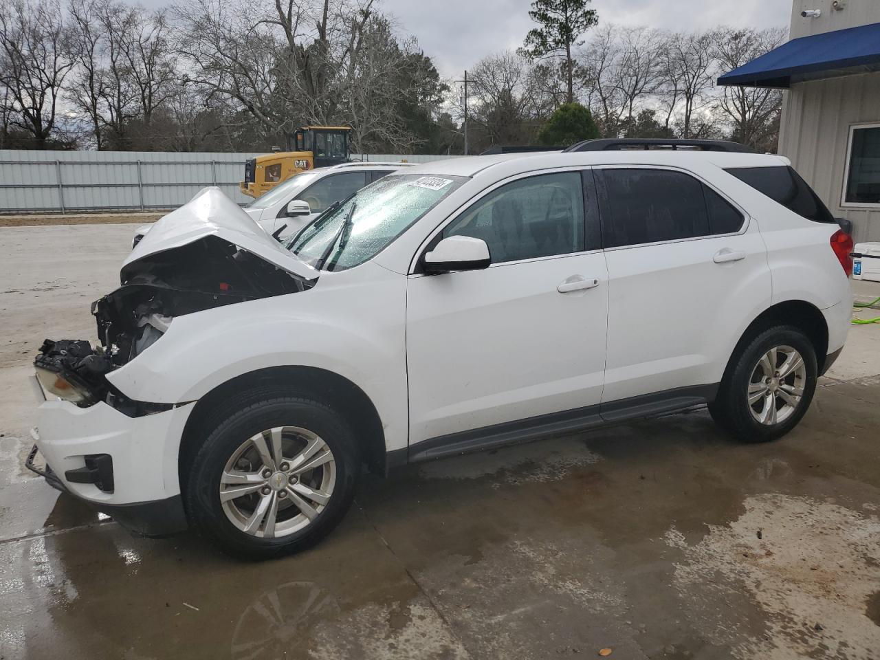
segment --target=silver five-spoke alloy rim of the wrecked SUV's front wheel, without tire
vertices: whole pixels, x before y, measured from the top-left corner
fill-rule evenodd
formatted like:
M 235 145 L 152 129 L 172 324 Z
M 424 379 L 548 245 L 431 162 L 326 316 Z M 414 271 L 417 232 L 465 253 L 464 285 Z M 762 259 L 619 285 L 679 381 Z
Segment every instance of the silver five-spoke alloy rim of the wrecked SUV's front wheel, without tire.
M 232 452 L 220 476 L 220 502 L 238 530 L 277 539 L 312 524 L 336 484 L 333 451 L 295 426 L 267 429 Z

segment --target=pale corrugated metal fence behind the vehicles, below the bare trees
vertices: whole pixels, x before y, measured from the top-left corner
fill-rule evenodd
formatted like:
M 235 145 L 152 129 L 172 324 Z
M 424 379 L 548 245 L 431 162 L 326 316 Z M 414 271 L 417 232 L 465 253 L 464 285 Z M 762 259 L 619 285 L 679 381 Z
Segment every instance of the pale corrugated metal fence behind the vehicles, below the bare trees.
M 0 213 L 173 209 L 205 186 L 238 203 L 247 158 L 257 153 L 0 150 Z M 446 156 L 362 154 L 370 161 L 428 163 Z

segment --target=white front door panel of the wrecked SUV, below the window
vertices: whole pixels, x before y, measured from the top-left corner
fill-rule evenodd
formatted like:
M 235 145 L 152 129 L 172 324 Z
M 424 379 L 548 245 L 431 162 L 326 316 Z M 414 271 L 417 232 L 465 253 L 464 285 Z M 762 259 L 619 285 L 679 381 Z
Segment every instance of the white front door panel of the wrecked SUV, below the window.
M 576 275 L 600 284 L 557 290 Z M 597 405 L 605 369 L 606 278 L 601 251 L 411 276 L 410 444 Z

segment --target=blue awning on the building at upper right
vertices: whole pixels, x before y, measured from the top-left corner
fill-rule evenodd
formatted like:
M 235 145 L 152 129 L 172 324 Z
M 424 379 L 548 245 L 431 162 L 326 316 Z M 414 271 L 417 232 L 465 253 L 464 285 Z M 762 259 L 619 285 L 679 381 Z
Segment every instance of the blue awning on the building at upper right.
M 793 39 L 718 78 L 718 84 L 790 87 L 880 70 L 880 23 Z

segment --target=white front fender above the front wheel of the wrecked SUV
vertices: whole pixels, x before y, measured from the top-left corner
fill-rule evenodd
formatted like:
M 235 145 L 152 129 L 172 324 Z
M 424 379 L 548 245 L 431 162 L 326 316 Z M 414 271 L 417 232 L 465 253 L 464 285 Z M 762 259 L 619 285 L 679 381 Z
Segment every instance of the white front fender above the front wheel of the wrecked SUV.
M 180 404 L 254 370 L 324 369 L 363 390 L 387 448 L 399 449 L 407 446 L 406 284 L 367 262 L 322 273 L 311 290 L 180 316 L 106 378 L 131 399 Z M 358 317 L 370 323 L 353 326 Z

